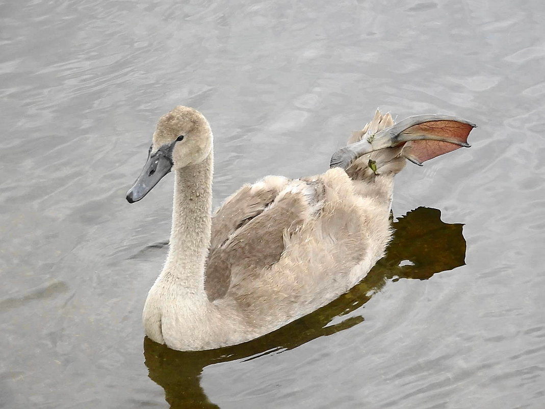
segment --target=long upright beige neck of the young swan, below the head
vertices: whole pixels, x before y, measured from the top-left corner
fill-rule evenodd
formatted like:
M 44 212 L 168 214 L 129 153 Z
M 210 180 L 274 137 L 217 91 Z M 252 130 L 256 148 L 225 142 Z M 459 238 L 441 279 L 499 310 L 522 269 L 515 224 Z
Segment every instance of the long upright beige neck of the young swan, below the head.
M 162 275 L 187 295 L 206 297 L 204 269 L 210 247 L 213 152 L 204 161 L 174 171 L 170 249 Z

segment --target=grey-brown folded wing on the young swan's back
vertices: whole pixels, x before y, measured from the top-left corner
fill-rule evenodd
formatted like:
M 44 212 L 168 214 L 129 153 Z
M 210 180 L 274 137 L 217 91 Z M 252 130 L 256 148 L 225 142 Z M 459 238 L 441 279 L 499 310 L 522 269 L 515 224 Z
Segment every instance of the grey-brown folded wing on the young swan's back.
M 212 219 L 205 289 L 210 300 L 227 293 L 232 274 L 251 274 L 280 259 L 284 234 L 316 211 L 315 184 L 268 176 L 245 185 Z M 313 205 L 314 204 L 314 205 Z

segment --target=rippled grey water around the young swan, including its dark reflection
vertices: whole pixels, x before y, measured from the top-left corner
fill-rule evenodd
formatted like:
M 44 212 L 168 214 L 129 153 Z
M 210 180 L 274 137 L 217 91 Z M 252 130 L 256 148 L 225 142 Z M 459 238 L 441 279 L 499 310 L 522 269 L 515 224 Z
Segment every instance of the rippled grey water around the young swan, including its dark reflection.
M 0 407 L 543 407 L 545 6 L 185 3 L 0 5 Z M 395 217 L 431 209 L 352 292 L 183 353 L 140 322 L 172 178 L 124 199 L 178 104 L 213 126 L 215 205 L 323 171 L 377 106 L 479 128 L 398 175 Z

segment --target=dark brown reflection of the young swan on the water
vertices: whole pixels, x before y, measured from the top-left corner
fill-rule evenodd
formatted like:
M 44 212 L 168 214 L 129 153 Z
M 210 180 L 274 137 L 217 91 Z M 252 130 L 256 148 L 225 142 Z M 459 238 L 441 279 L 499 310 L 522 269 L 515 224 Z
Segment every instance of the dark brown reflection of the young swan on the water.
M 313 313 L 256 340 L 211 351 L 180 352 L 148 338 L 144 356 L 149 377 L 165 389 L 172 408 L 214 408 L 200 385 L 205 366 L 235 359 L 255 359 L 265 354 L 298 347 L 320 336 L 334 334 L 364 321 L 349 317 L 328 325 L 335 317 L 358 309 L 388 281 L 400 278 L 426 280 L 437 272 L 465 264 L 462 224 L 441 222 L 437 209 L 418 208 L 393 223 L 395 233 L 385 258 L 348 293 Z

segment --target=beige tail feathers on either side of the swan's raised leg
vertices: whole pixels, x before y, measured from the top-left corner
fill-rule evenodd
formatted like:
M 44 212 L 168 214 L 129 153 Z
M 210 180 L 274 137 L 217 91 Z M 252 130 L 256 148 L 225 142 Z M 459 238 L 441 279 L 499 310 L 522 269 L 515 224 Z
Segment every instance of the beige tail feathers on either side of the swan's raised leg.
M 359 142 L 364 138 L 373 138 L 374 134 L 393 126 L 390 112 L 383 114 L 378 109 L 373 119 L 365 127 L 354 132 L 348 139 L 348 144 Z M 346 170 L 353 180 L 373 180 L 377 175 L 396 174 L 405 167 L 405 158 L 401 156 L 401 147 L 381 149 L 361 156 Z

